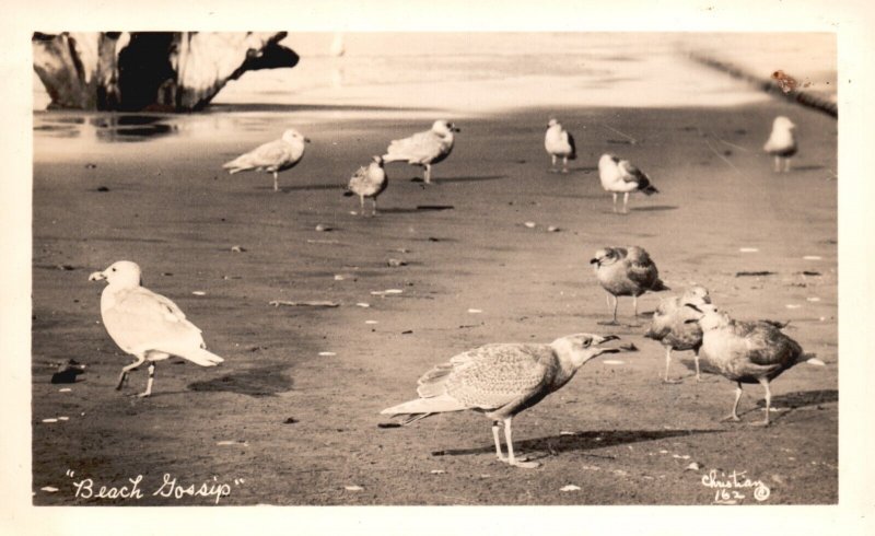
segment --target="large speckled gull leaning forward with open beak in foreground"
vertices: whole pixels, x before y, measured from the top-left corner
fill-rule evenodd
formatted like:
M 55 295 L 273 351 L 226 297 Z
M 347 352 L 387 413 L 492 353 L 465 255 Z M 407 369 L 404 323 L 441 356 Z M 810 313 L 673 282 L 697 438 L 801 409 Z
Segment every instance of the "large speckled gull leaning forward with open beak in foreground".
M 393 406 L 382 415 L 405 417 L 404 424 L 444 411 L 471 409 L 492 420 L 495 454 L 506 464 L 534 468 L 514 455 L 511 421 L 516 413 L 538 404 L 565 385 L 584 363 L 619 348 L 599 345 L 617 340 L 616 335 L 575 334 L 549 345 L 493 343 L 459 353 L 419 378 L 419 398 Z M 499 423 L 504 424 L 508 456 L 501 450 Z

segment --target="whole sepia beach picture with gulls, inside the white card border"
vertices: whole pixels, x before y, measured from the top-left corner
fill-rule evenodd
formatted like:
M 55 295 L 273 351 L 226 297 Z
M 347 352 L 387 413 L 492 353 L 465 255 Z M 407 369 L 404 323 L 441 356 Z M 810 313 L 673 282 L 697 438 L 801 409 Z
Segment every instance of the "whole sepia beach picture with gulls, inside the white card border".
M 37 516 L 839 505 L 839 31 L 283 26 L 27 28 Z

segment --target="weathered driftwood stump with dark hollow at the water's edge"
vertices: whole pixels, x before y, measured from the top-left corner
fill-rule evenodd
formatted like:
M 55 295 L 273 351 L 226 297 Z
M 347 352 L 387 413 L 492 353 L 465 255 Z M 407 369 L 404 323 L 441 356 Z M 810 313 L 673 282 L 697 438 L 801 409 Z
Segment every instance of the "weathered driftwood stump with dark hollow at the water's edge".
M 34 70 L 50 108 L 191 112 L 229 80 L 294 67 L 285 32 L 35 33 Z

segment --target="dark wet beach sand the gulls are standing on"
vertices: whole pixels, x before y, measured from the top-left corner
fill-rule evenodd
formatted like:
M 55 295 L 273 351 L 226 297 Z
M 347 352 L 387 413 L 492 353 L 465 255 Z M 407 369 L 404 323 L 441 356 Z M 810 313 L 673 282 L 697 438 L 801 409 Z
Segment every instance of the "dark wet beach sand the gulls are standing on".
M 832 118 L 781 102 L 569 109 L 561 118 L 580 156 L 557 175 L 547 173 L 542 148 L 556 110 L 454 117 L 463 131 L 434 167 L 436 184 L 411 182 L 417 168 L 390 164 L 381 213 L 370 219 L 351 214 L 358 199 L 341 196 L 349 175 L 429 121 L 328 110 L 302 124 L 290 112 L 213 113 L 214 135 L 209 121 L 192 132 L 180 118 L 149 141 L 75 151 L 35 143 L 35 504 L 210 503 L 153 496 L 165 474 L 185 486 L 229 482 L 221 504 L 710 504 L 714 490 L 702 477 L 711 470 L 762 480 L 768 504 L 837 502 Z M 772 174 L 760 151 L 778 114 L 800 125 L 802 139 L 786 175 Z M 279 194 L 269 175 L 222 173 L 222 162 L 287 125 L 313 143 L 280 175 Z M 595 170 L 603 152 L 638 163 L 661 194 L 612 214 Z M 735 317 L 791 321 L 786 333 L 826 366 L 802 363 L 773 383 L 772 427 L 748 426 L 761 418 L 758 386 L 745 391 L 744 423 L 719 422 L 733 401 L 731 382 L 696 383 L 678 362 L 672 374 L 685 382 L 664 385 L 663 349 L 641 336 L 644 327 L 597 324 L 609 312 L 587 261 L 605 245 L 645 247 L 666 284 L 704 284 Z M 149 399 L 113 389 L 130 360 L 97 323 L 102 286 L 88 275 L 122 258 L 203 329 L 222 366 L 161 362 Z M 389 267 L 388 258 L 407 265 Z M 387 289 L 402 292 L 372 294 Z M 640 310 L 658 298 L 645 295 Z M 630 300 L 619 313 L 631 322 Z M 386 422 L 381 409 L 413 397 L 419 375 L 459 351 L 576 331 L 616 333 L 641 351 L 616 356 L 622 364 L 588 363 L 514 421 L 517 450 L 539 469 L 494 461 L 489 421 L 474 412 L 377 427 Z M 691 361 L 689 352 L 677 357 Z M 61 393 L 49 383 L 50 364 L 71 358 L 88 370 Z M 135 372 L 125 393 L 141 389 L 145 375 Z M 57 416 L 69 420 L 42 422 Z M 217 445 L 223 441 L 245 444 Z M 685 470 L 691 462 L 701 469 Z M 65 476 L 71 468 L 96 486 L 142 475 L 145 497 L 77 499 Z M 567 485 L 582 489 L 560 491 Z

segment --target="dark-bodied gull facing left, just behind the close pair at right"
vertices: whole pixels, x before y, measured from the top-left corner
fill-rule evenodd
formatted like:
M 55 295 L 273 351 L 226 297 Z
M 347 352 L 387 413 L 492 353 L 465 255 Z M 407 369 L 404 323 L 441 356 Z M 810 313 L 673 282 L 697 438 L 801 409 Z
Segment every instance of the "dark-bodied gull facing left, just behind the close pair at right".
M 595 276 L 608 292 L 608 307 L 614 307 L 614 321 L 599 323 L 603 325 L 617 325 L 617 296 L 632 296 L 634 315 L 638 317 L 638 296 L 646 291 L 670 290 L 660 279 L 656 265 L 642 247 L 605 247 L 595 253 L 590 264 L 595 265 Z

